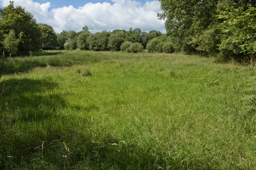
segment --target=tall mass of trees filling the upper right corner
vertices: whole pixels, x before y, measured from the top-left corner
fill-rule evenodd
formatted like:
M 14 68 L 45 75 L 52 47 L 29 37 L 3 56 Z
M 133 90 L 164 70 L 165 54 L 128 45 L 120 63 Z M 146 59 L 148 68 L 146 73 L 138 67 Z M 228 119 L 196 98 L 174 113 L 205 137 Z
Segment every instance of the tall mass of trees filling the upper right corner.
M 224 58 L 254 58 L 256 1 L 158 0 L 167 35 L 176 49 Z

